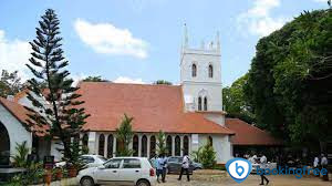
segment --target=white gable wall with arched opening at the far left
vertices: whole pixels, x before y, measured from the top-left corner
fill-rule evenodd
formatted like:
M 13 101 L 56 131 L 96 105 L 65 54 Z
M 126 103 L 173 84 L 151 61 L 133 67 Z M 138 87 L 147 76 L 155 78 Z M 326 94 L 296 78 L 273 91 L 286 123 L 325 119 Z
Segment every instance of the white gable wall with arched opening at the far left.
M 4 125 L 8 131 L 10 140 L 10 155 L 14 156 L 17 154 L 17 143 L 22 144 L 27 141 L 27 146 L 31 152 L 32 147 L 32 134 L 25 130 L 25 127 L 20 123 L 6 107 L 0 104 L 0 122 Z M 29 153 L 30 153 L 29 152 Z M 11 158 L 12 161 L 12 158 Z

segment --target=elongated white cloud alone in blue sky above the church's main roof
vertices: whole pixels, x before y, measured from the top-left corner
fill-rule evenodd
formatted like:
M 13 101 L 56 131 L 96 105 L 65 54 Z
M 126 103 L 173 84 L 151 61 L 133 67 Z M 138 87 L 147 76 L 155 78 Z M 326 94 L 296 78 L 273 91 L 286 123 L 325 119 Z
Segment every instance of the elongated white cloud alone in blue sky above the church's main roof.
M 147 58 L 147 42 L 134 38 L 127 29 L 118 29 L 111 23 L 91 23 L 77 19 L 74 23 L 81 40 L 97 53 Z

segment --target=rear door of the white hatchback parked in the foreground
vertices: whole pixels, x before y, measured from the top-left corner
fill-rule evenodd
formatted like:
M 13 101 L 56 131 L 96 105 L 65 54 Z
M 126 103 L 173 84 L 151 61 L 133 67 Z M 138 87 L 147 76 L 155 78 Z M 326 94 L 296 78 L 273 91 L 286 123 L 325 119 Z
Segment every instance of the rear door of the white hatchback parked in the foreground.
M 124 158 L 120 169 L 122 185 L 135 185 L 142 178 L 142 165 L 138 158 Z

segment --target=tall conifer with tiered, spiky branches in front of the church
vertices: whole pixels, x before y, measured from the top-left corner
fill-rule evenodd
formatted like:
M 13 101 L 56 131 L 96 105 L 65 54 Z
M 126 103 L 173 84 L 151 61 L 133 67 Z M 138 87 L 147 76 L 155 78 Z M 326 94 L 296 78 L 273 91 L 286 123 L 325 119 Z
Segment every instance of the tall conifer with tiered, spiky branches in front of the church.
M 53 137 L 61 140 L 63 145 L 59 148 L 63 153 L 63 159 L 69 164 L 75 164 L 81 147 L 77 141 L 83 125 L 86 123 L 84 108 L 81 107 L 80 94 L 75 92 L 79 87 L 72 86 L 73 80 L 69 78 L 70 72 L 63 70 L 68 64 L 61 49 L 62 38 L 59 37 L 60 21 L 55 12 L 51 9 L 45 11 L 37 28 L 37 39 L 30 42 L 33 52 L 27 66 L 31 70 L 34 78 L 29 80 L 28 99 L 34 108 L 30 111 L 27 124 L 30 128 L 46 128 Z M 44 84 L 46 91 L 41 86 Z M 44 103 L 45 100 L 48 104 Z M 37 127 L 39 126 L 39 127 Z M 42 130 L 35 132 L 44 132 Z

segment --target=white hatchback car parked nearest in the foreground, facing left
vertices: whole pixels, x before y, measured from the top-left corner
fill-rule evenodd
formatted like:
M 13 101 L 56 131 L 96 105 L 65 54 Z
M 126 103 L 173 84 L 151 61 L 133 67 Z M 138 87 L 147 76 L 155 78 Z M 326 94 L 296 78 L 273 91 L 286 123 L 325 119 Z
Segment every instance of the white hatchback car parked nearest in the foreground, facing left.
M 98 167 L 82 169 L 76 178 L 81 186 L 155 186 L 157 182 L 146 157 L 114 157 Z

